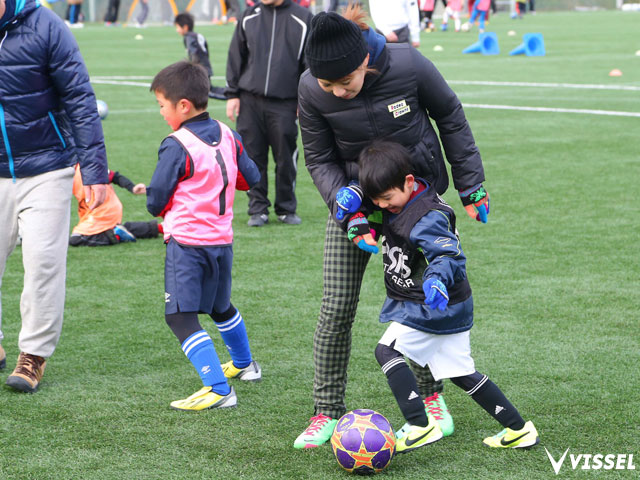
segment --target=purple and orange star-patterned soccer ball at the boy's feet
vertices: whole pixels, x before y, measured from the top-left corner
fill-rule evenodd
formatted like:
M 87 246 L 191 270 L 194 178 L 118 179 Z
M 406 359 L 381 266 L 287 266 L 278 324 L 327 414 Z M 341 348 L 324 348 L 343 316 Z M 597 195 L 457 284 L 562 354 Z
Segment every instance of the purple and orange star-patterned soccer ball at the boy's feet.
M 378 473 L 391 463 L 396 437 L 383 415 L 373 410 L 354 410 L 338 420 L 331 446 L 338 465 L 347 472 Z

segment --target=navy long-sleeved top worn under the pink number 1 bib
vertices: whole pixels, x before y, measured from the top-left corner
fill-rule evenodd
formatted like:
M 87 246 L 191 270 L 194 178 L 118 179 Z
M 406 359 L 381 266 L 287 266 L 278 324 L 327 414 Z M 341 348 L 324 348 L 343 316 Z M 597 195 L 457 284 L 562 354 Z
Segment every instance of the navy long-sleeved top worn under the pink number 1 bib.
M 220 125 L 209 118 L 208 113 L 190 118 L 180 127 L 191 130 L 198 138 L 216 144 L 220 141 Z M 260 172 L 256 164 L 249 158 L 242 146 L 242 138 L 235 131 L 238 172 L 242 174 L 249 187 L 260 181 Z M 166 137 L 158 151 L 158 164 L 153 172 L 151 183 L 147 187 L 147 210 L 154 217 L 164 216 L 170 206 L 178 183 L 187 173 L 189 154 L 173 137 Z

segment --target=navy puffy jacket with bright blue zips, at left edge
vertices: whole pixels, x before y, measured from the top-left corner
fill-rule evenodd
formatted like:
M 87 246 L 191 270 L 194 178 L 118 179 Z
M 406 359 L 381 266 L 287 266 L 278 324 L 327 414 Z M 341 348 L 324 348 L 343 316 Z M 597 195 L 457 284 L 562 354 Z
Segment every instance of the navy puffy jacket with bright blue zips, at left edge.
M 0 21 L 0 177 L 76 163 L 85 185 L 109 183 L 96 98 L 78 44 L 39 2 L 8 0 Z

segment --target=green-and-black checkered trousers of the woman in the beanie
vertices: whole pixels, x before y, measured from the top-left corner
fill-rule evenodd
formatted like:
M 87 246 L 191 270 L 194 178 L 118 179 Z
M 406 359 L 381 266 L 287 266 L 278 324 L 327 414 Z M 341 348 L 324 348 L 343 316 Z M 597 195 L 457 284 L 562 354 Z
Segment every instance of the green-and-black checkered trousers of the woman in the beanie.
M 351 354 L 351 325 L 370 254 L 360 250 L 329 217 L 324 244 L 324 291 L 313 336 L 313 399 L 315 414 L 340 418 L 346 412 L 347 367 Z M 412 364 L 423 396 L 442 391 L 429 368 Z

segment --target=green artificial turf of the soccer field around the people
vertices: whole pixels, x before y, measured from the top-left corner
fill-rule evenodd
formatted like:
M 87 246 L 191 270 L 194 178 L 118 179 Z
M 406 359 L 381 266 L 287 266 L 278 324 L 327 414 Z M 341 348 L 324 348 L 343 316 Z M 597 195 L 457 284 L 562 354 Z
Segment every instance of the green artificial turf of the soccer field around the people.
M 516 36 L 508 36 L 509 30 Z M 452 82 L 463 103 L 640 112 L 638 91 L 473 86 L 465 80 L 640 86 L 638 14 L 539 13 L 492 17 L 494 57 L 462 55 L 475 33 L 422 36 L 422 52 Z M 232 28 L 198 25 L 224 75 Z M 521 35 L 544 34 L 547 55 L 510 57 Z M 146 30 L 89 25 L 74 31 L 93 77 L 152 76 L 184 57 L 172 27 Z M 134 40 L 142 34 L 143 40 Z M 443 47 L 434 52 L 435 45 Z M 622 77 L 609 77 L 619 68 Z M 143 80 L 144 81 L 144 80 Z M 221 84 L 223 81 L 218 80 Z M 109 104 L 103 122 L 109 166 L 148 182 L 169 132 L 146 88 L 95 84 Z M 224 102 L 211 114 L 225 120 Z M 469 220 L 456 194 L 473 285 L 477 368 L 490 375 L 526 419 L 541 446 L 489 451 L 500 427 L 446 383 L 456 422 L 452 437 L 396 458 L 383 474 L 397 479 L 554 477 L 544 447 L 569 453 L 635 454 L 640 469 L 638 314 L 640 295 L 639 127 L 635 117 L 467 108 L 491 194 L 487 225 Z M 273 177 L 271 177 L 271 182 Z M 125 220 L 145 220 L 144 197 L 116 187 Z M 312 337 L 322 295 L 326 206 L 301 158 L 300 226 L 246 225 L 246 196 L 236 202 L 234 290 L 255 358 L 258 384 L 234 382 L 238 408 L 185 414 L 169 402 L 200 387 L 164 323 L 164 246 L 142 240 L 69 250 L 65 324 L 39 393 L 0 388 L 0 478 L 210 479 L 347 478 L 328 446 L 292 448 L 313 413 Z M 76 220 L 73 205 L 72 222 Z M 18 355 L 20 248 L 2 282 L 4 381 Z M 373 408 L 395 426 L 402 416 L 373 349 L 384 326 L 380 258 L 365 277 L 353 328 L 349 408 Z M 228 354 L 208 318 L 222 361 Z M 634 471 L 560 475 L 637 478 Z

